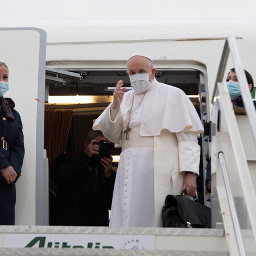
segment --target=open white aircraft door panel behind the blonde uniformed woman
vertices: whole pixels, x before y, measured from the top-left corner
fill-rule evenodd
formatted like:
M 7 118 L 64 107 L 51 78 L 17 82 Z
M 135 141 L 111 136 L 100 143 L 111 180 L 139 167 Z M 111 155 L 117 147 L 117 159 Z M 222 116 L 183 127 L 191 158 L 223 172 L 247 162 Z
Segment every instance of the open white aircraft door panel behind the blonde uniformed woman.
M 16 182 L 16 225 L 45 225 L 48 191 L 43 159 L 46 32 L 39 28 L 0 28 L 0 61 L 9 67 L 9 92 L 23 123 L 25 156 Z M 45 164 L 47 168 L 48 164 Z M 38 202 L 38 203 L 37 203 Z

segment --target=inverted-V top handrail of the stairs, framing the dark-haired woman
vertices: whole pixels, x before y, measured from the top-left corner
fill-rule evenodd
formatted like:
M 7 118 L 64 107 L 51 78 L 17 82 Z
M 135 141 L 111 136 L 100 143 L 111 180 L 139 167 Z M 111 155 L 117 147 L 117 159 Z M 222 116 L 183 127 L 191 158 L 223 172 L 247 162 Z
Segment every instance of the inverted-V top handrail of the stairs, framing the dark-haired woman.
M 232 56 L 234 68 L 236 70 L 236 75 L 238 77 L 238 81 L 240 84 L 242 98 L 243 98 L 243 105 L 245 106 L 246 114 L 247 114 L 250 128 L 251 128 L 251 133 L 253 135 L 254 143 L 256 146 L 256 131 L 255 131 L 256 111 L 255 111 L 253 101 L 251 100 L 251 94 L 250 94 L 250 91 L 248 90 L 248 82 L 245 76 L 245 72 L 243 71 L 243 68 L 242 68 L 240 56 L 238 54 L 236 38 L 234 38 L 232 34 L 228 34 L 224 44 L 224 49 L 222 51 L 221 61 L 218 67 L 218 73 L 217 73 L 216 81 L 213 88 L 212 104 L 213 104 L 214 97 L 217 90 L 217 83 L 222 82 L 224 77 L 226 64 L 228 62 L 229 51 Z

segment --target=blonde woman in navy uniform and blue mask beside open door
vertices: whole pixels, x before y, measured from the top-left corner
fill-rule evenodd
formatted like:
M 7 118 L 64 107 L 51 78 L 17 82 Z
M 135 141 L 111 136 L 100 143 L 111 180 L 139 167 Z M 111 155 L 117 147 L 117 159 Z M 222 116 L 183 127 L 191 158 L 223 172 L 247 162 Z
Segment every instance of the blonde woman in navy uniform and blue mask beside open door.
M 20 176 L 24 158 L 24 142 L 20 115 L 9 90 L 9 69 L 0 62 L 0 225 L 14 225 L 16 203 L 15 183 Z

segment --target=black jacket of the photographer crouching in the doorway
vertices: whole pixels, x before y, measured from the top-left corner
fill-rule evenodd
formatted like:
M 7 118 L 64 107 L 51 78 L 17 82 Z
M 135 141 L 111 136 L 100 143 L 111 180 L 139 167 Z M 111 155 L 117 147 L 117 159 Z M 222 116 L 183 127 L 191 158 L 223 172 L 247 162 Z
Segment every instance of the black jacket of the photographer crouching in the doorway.
M 109 225 L 115 171 L 110 177 L 103 171 L 100 164 L 97 173 L 84 152 L 57 157 L 53 173 L 57 185 L 55 225 Z

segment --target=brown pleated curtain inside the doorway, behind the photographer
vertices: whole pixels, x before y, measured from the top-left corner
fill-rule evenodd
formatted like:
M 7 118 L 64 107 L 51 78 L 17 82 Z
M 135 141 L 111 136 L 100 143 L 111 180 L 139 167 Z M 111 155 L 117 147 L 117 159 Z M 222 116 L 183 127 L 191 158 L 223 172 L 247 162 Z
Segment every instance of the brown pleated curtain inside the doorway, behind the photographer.
M 72 110 L 44 111 L 44 148 L 49 162 L 64 154 L 72 116 Z

